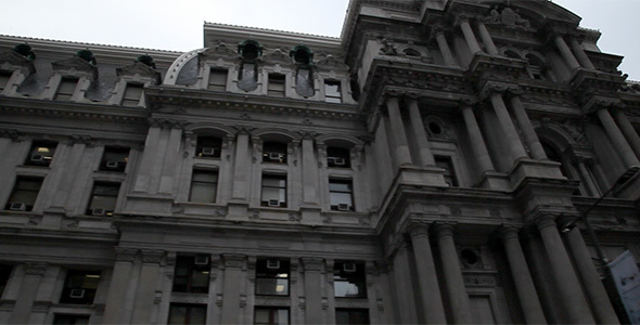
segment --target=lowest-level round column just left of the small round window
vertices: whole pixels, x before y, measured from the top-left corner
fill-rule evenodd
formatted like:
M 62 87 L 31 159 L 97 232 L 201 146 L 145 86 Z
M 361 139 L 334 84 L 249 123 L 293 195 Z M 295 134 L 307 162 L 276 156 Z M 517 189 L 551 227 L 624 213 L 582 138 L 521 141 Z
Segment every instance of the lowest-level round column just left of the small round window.
M 453 323 L 473 323 L 469 307 L 469 295 L 464 287 L 456 244 L 453 244 L 453 226 L 450 224 L 438 224 L 436 225 L 435 232 L 438 239 L 440 259 L 443 260 L 445 286 L 448 292 L 451 313 L 453 314 Z

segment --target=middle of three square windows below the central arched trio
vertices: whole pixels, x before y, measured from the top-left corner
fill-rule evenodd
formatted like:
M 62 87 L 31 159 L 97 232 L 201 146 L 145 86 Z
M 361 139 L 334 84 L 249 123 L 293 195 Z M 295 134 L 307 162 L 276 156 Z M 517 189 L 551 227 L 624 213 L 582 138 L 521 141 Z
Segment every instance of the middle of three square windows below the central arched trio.
M 258 259 L 256 262 L 256 295 L 289 296 L 289 261 Z

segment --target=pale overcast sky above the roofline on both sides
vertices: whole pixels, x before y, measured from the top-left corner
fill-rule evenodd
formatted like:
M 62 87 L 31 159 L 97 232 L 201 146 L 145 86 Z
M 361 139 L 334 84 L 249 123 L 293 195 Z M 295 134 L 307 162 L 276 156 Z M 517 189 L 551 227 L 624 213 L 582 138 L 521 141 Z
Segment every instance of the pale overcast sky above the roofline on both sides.
M 401 1 L 401 0 L 397 0 Z M 514 0 L 528 1 L 528 0 Z M 640 80 L 640 0 L 553 0 L 602 32 L 603 52 Z M 158 50 L 203 46 L 203 22 L 338 37 L 348 0 L 4 1 L 0 34 Z

